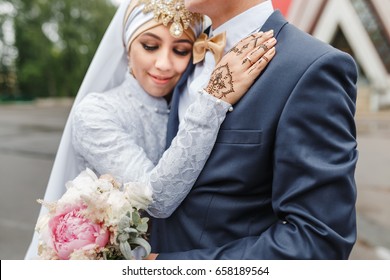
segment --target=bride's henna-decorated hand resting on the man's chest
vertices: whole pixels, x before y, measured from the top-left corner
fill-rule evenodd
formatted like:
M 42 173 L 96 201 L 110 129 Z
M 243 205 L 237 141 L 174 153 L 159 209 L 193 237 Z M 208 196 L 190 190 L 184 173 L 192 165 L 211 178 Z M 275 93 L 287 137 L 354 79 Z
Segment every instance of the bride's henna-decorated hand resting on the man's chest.
M 274 57 L 275 44 L 272 30 L 241 40 L 216 65 L 205 90 L 235 104 Z

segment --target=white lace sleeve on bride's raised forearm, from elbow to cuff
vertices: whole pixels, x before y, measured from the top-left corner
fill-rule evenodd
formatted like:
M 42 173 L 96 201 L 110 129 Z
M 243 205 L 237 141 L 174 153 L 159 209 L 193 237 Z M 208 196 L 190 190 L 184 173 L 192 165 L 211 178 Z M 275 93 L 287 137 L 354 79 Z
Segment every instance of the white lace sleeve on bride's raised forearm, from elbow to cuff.
M 209 94 L 188 108 L 171 146 L 148 176 L 154 194 L 149 214 L 169 217 L 180 205 L 202 171 L 229 108 Z

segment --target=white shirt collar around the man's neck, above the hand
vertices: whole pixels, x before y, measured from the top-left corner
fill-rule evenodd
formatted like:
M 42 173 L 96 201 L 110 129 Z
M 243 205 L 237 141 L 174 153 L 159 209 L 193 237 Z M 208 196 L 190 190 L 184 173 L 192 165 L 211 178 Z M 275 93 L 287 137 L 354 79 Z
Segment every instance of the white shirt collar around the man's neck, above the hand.
M 235 16 L 211 32 L 215 35 L 226 31 L 226 53 L 243 37 L 260 30 L 273 12 L 274 8 L 272 6 L 272 1 L 264 1 Z M 253 29 L 254 26 L 256 27 L 255 29 Z

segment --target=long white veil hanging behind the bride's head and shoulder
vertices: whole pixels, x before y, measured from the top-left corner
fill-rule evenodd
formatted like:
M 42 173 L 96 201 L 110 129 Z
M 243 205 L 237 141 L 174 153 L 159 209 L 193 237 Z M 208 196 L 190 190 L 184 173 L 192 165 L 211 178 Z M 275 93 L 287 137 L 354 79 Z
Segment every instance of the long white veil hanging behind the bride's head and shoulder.
M 44 201 L 58 200 L 65 193 L 65 183 L 73 180 L 79 173 L 71 141 L 71 120 L 74 108 L 89 93 L 107 91 L 119 86 L 125 79 L 128 70 L 126 45 L 130 38 L 134 39 L 134 35 L 139 32 L 140 27 L 153 19 L 152 12 L 142 12 L 143 5 L 135 7 L 137 2 L 136 0 L 123 0 L 121 2 L 92 59 L 65 124 Z M 130 5 L 131 8 L 129 8 Z M 127 14 L 128 11 L 131 13 Z M 198 36 L 202 31 L 201 25 L 191 26 L 191 28 L 195 36 Z M 41 207 L 39 216 L 46 212 L 47 209 Z M 25 259 L 38 258 L 37 249 L 38 234 L 34 232 Z

